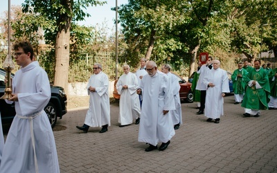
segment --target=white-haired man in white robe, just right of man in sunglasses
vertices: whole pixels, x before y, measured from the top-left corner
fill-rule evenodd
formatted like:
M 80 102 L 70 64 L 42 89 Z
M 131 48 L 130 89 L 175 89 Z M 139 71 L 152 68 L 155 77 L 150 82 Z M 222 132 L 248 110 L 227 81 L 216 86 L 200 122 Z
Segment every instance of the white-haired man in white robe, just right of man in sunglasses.
M 141 115 L 141 107 L 139 104 L 139 95 L 136 94 L 139 84 L 134 73 L 129 72 L 129 65 L 123 65 L 124 74 L 120 76 L 116 83 L 116 90 L 120 94 L 119 100 L 119 127 L 125 127 L 132 124 L 133 119 Z

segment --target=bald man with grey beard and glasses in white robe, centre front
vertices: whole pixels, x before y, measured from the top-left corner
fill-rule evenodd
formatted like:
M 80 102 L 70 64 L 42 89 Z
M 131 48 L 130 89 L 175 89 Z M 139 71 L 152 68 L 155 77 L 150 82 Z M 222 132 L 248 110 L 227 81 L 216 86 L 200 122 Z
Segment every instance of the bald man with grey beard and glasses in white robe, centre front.
M 150 144 L 145 152 L 157 149 L 161 142 L 160 151 L 165 150 L 170 144 L 170 139 L 175 135 L 170 110 L 175 109 L 173 93 L 168 85 L 169 78 L 157 72 L 157 64 L 149 61 L 146 64 L 148 75 L 143 77 L 141 86 L 136 91 L 143 95 L 141 107 L 141 123 L 139 125 L 139 142 Z

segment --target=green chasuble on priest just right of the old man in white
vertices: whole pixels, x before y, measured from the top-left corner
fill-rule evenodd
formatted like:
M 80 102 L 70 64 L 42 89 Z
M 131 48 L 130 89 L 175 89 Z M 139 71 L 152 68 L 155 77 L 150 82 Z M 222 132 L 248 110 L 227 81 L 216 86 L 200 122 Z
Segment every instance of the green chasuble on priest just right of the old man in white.
M 246 85 L 246 81 L 247 81 L 247 71 L 244 69 L 241 69 L 241 71 L 239 69 L 236 69 L 233 74 L 231 75 L 231 79 L 233 81 L 233 92 L 235 94 L 243 94 L 244 93 L 244 89 L 245 89 L 245 85 Z M 242 77 L 237 77 L 237 75 L 240 74 L 242 75 Z

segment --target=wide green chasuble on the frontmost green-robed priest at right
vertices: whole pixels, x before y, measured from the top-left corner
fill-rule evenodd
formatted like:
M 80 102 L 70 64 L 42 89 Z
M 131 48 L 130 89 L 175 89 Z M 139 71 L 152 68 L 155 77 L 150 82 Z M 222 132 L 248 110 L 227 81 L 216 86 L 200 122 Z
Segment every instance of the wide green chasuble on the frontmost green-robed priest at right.
M 242 107 L 256 110 L 268 109 L 270 87 L 267 71 L 262 68 L 259 71 L 252 69 L 247 74 L 247 78 L 247 89 L 244 93 Z M 256 89 L 255 85 L 249 86 L 248 82 L 250 80 L 255 80 L 262 88 Z

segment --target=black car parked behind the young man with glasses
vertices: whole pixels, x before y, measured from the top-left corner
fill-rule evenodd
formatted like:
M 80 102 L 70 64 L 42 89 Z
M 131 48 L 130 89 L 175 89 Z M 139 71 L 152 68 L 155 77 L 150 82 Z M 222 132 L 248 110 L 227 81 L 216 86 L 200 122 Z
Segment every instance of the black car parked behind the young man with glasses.
M 0 97 L 4 95 L 6 85 L 4 83 L 6 71 L 0 69 Z M 13 78 L 15 75 L 12 74 Z M 60 86 L 51 86 L 51 99 L 44 107 L 47 113 L 51 127 L 54 127 L 57 122 L 57 117 L 60 119 L 67 112 L 66 109 L 67 98 L 64 89 Z M 0 111 L 2 124 L 11 123 L 15 117 L 15 104 L 7 104 L 5 100 L 0 99 Z

